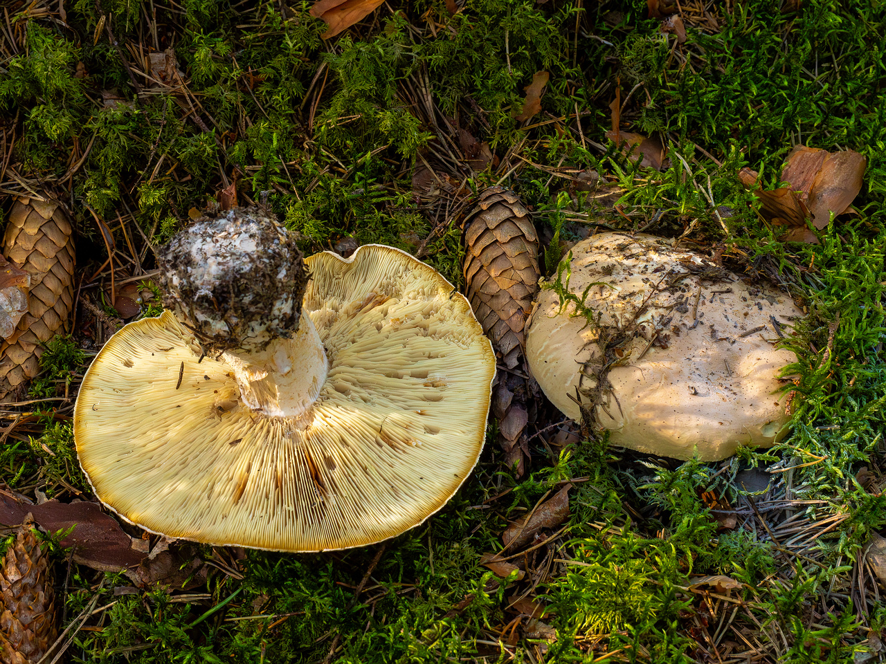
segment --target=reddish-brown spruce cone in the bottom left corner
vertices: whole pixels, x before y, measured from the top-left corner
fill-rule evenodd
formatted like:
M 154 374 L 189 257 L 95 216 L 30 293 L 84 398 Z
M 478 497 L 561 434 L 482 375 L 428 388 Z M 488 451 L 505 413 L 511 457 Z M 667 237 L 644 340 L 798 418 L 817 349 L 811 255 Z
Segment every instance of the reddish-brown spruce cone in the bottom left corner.
M 26 522 L 0 567 L 0 660 L 35 664 L 55 643 L 51 567 Z

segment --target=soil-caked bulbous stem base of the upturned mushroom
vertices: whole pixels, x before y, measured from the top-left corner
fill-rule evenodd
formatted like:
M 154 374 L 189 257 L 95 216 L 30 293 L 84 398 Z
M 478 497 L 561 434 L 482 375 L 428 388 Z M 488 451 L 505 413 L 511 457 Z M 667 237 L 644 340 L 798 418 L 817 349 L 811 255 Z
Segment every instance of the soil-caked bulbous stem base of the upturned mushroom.
M 163 304 L 207 352 L 261 349 L 299 328 L 307 286 L 294 239 L 258 208 L 191 224 L 160 252 Z

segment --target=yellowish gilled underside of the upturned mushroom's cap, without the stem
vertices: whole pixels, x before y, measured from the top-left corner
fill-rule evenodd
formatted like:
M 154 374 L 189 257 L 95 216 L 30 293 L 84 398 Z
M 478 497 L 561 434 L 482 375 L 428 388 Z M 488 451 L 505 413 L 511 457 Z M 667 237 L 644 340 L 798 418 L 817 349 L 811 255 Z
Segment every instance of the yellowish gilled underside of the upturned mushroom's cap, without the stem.
M 307 259 L 330 370 L 306 416 L 238 401 L 172 313 L 128 324 L 83 379 L 74 436 L 106 506 L 207 544 L 317 552 L 380 542 L 444 506 L 476 465 L 495 372 L 467 300 L 403 251 Z

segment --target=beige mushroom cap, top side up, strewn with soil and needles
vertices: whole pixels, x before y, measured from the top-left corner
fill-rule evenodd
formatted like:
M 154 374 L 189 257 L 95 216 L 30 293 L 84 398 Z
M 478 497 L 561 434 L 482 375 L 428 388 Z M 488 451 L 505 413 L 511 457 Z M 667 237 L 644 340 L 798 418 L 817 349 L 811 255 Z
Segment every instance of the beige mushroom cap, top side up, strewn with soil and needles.
M 581 419 L 577 400 L 589 403 L 604 363 L 598 342 L 633 329 L 623 358 L 607 360 L 611 389 L 597 392 L 601 403 L 591 408 L 612 444 L 716 460 L 784 435 L 786 398 L 774 392 L 796 357 L 774 347 L 770 316 L 786 327 L 801 318 L 790 297 L 751 288 L 650 235 L 594 235 L 571 251 L 569 290 L 580 299 L 590 285 L 585 305 L 597 324 L 574 305 L 561 311 L 556 292 L 541 290 L 526 336 L 532 374 L 557 408 Z

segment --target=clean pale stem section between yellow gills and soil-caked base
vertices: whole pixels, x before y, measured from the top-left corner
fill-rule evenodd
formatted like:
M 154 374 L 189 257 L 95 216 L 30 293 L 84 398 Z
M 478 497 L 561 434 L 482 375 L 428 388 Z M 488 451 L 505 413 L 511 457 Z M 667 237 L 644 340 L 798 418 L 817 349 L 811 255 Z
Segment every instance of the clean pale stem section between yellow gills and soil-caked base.
M 300 417 L 320 394 L 329 362 L 310 317 L 301 314 L 295 336 L 262 351 L 225 351 L 243 404 L 268 417 Z

